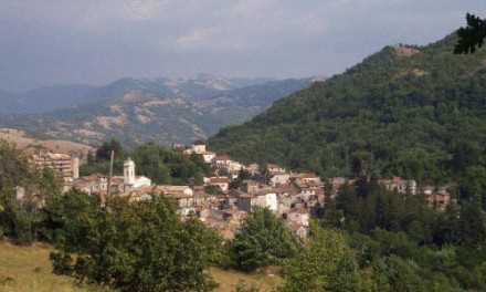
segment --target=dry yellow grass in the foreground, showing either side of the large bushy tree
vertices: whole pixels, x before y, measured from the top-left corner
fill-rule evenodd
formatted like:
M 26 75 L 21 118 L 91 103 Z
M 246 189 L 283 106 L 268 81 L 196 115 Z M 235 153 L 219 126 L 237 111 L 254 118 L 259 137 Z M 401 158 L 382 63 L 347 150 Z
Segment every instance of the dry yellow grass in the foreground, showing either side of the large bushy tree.
M 17 247 L 8 242 L 0 242 L 0 291 L 6 292 L 71 292 L 99 291 L 97 289 L 80 289 L 73 286 L 67 277 L 51 273 L 49 244 L 34 247 Z M 260 274 L 243 274 L 220 269 L 211 269 L 211 275 L 220 283 L 219 292 L 235 291 L 239 283 L 246 286 L 254 285 L 260 291 L 274 291 L 282 282 L 279 278 Z M 4 282 L 2 284 L 2 282 Z

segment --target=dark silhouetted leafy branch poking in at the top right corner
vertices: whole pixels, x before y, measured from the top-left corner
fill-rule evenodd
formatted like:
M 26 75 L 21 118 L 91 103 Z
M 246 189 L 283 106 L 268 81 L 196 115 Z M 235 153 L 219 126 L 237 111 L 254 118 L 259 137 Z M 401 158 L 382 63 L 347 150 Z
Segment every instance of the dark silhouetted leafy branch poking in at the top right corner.
M 454 53 L 468 54 L 474 53 L 477 48 L 483 46 L 483 40 L 486 36 L 486 20 L 474 14 L 466 14 L 467 27 L 457 30 L 457 41 Z

